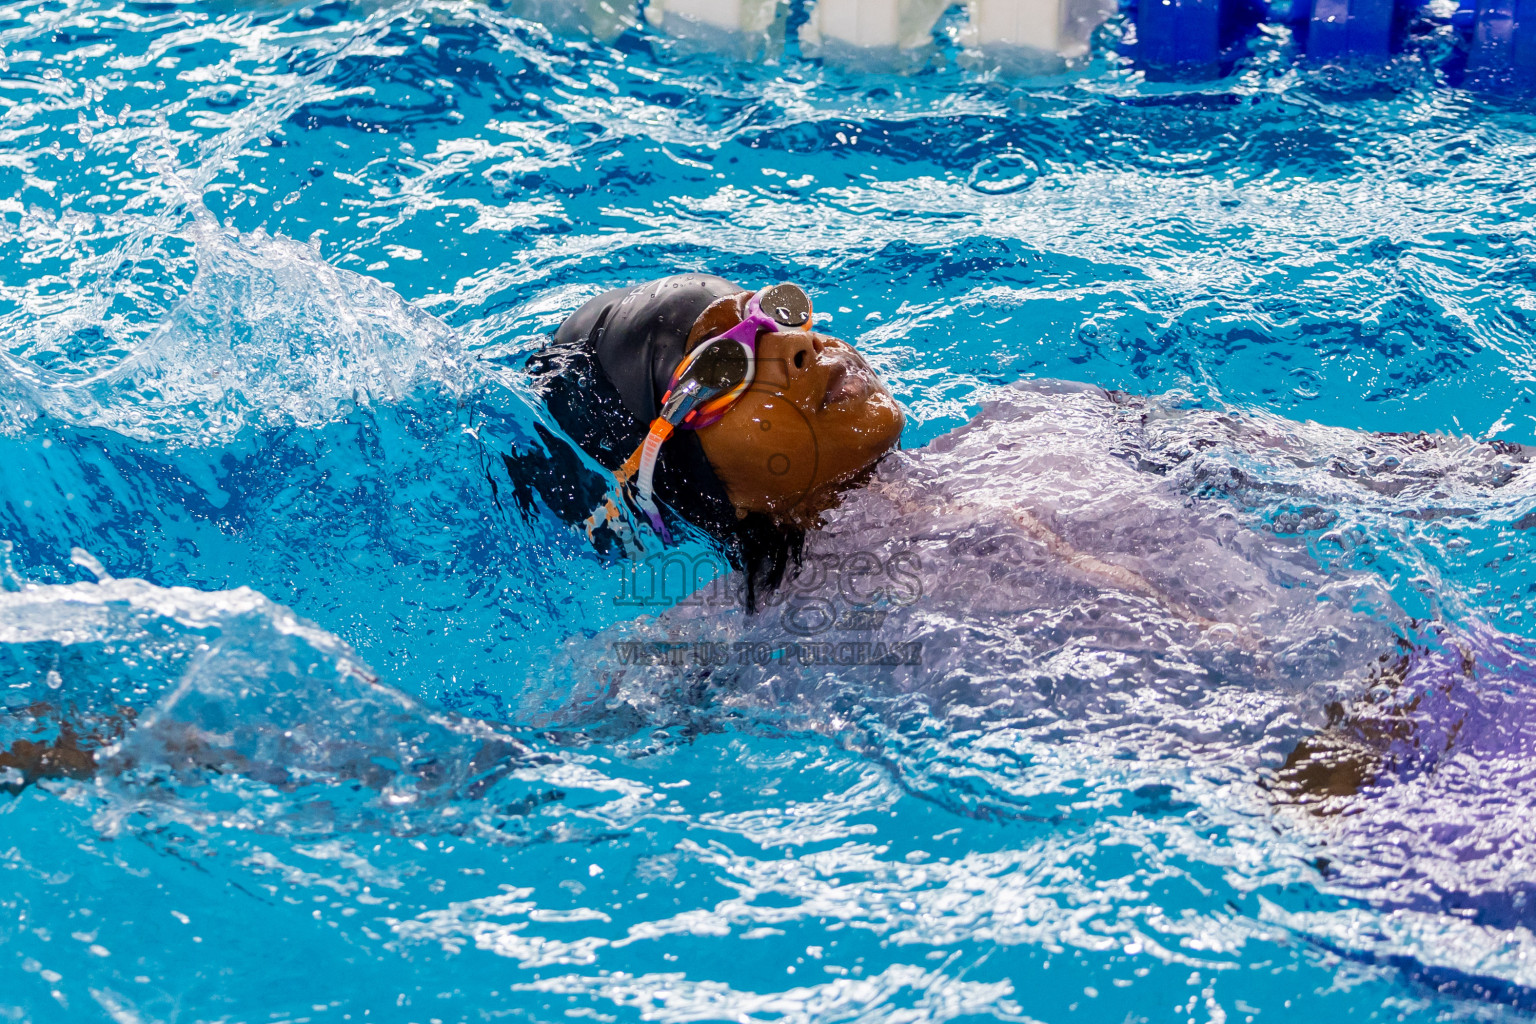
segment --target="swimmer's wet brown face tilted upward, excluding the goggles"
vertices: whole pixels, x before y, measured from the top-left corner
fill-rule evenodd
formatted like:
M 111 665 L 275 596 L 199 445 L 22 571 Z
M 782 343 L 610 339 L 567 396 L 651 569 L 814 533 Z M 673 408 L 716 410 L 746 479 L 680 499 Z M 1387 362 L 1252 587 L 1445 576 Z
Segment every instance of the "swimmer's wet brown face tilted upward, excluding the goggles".
M 750 292 L 717 299 L 688 347 L 742 321 Z M 842 484 L 902 436 L 906 418 L 848 342 L 814 332 L 763 333 L 757 375 L 717 422 L 699 431 L 703 454 L 737 511 L 809 524 Z

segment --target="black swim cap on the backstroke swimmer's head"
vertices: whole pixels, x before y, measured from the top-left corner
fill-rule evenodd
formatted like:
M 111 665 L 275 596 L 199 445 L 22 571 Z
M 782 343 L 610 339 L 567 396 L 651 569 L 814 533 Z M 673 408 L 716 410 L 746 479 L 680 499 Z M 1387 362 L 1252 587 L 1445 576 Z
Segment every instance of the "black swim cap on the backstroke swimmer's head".
M 716 299 L 743 290 L 725 278 L 679 273 L 605 292 L 565 318 L 550 345 L 528 361 L 533 384 L 570 439 L 616 470 L 645 439 L 694 321 Z M 518 504 L 528 510 L 536 490 L 561 519 L 584 520 L 613 481 L 593 479 L 548 431 L 539 438 L 547 454 L 505 457 Z M 662 447 L 654 493 L 670 525 L 680 516 L 722 542 L 731 565 L 745 571 L 748 608 L 756 590 L 783 579 L 805 539 L 762 513 L 737 516 L 691 430 L 679 430 Z

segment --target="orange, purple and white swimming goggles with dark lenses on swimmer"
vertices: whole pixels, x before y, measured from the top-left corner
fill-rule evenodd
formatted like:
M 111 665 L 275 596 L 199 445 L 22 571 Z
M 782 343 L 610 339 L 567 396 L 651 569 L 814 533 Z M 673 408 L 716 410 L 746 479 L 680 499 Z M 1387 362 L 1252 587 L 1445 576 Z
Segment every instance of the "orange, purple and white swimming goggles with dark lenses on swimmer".
M 757 336 L 763 332 L 805 330 L 811 324 L 811 296 L 796 284 L 774 284 L 757 290 L 746 301 L 746 316 L 723 335 L 716 335 L 693 347 L 673 370 L 662 408 L 651 421 L 645 441 L 624 465 L 614 470 L 617 493 L 634 482 L 634 504 L 650 520 L 664 543 L 671 542 L 662 524 L 660 510 L 651 493 L 656 459 L 662 444 L 679 427 L 699 430 L 717 422 L 751 387 L 757 376 Z M 604 499 L 587 517 L 587 536 L 619 519 L 613 496 Z

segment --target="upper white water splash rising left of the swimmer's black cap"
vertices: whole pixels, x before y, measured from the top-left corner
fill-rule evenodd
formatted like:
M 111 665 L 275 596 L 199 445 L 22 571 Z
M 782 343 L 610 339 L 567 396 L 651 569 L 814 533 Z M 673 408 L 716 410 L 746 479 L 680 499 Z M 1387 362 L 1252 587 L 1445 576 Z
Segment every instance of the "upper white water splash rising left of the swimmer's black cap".
M 264 232 L 200 218 L 184 298 L 117 365 L 66 378 L 0 356 L 0 430 L 40 416 L 172 445 L 313 427 L 413 388 L 464 387 L 455 333 L 373 278 Z

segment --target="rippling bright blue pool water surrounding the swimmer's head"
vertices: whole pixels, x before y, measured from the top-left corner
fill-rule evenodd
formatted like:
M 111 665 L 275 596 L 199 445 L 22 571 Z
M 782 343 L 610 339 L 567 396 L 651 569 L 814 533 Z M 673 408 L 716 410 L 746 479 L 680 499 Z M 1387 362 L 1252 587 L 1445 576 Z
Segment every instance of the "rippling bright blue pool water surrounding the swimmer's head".
M 1195 83 L 1118 31 L 1031 80 L 0 6 L 0 742 L 103 763 L 0 794 L 0 1019 L 1536 1007 L 1536 477 L 1485 444 L 1536 441 L 1536 120 L 1448 29 Z M 803 282 L 906 405 L 813 551 L 906 567 L 836 639 L 915 666 L 507 500 L 527 355 L 673 270 Z M 1086 597 L 1020 504 L 1269 639 Z M 1367 785 L 1276 795 L 1370 708 Z

